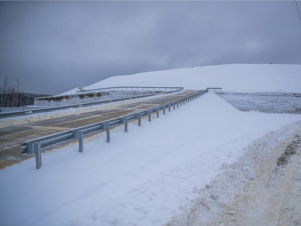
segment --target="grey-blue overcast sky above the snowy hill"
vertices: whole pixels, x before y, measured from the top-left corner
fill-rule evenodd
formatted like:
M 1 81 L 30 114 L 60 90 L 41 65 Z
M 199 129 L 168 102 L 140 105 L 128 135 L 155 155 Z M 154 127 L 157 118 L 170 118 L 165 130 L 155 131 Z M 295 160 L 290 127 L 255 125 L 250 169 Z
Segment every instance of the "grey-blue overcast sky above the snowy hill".
M 25 92 L 270 62 L 301 63 L 295 1 L 0 1 L 0 81 L 19 78 Z

